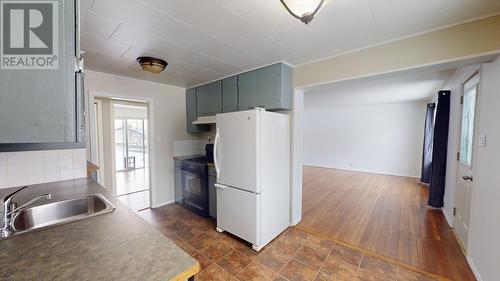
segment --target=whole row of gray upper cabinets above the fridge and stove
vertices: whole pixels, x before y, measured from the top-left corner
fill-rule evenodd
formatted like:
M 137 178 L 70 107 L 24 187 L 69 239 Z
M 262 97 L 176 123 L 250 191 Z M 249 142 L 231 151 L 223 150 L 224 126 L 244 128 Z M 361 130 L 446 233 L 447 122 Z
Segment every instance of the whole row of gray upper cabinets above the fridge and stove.
M 293 69 L 276 63 L 186 90 L 188 133 L 205 132 L 215 115 L 264 108 L 292 109 Z M 194 122 L 194 124 L 193 124 Z

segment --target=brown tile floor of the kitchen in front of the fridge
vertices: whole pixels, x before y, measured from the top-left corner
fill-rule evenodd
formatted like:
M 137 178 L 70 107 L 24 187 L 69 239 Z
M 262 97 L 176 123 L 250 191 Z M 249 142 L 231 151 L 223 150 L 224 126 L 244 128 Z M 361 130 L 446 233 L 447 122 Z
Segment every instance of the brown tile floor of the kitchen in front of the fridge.
M 297 228 L 260 252 L 179 204 L 139 213 L 201 265 L 196 280 L 440 280 Z

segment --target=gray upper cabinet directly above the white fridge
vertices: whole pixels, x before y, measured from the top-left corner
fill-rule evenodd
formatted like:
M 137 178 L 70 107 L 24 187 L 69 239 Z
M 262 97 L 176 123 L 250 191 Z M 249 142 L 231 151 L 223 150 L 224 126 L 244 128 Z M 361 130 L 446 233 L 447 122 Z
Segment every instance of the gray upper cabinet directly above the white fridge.
M 238 110 L 291 110 L 293 71 L 283 63 L 238 75 Z

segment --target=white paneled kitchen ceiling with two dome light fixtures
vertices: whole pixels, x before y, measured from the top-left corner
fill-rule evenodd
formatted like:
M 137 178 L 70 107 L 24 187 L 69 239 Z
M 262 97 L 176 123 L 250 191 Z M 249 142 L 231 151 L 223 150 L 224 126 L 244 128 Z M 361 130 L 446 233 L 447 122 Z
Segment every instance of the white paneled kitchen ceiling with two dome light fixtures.
M 81 9 L 87 68 L 187 87 L 493 14 L 500 1 L 327 0 L 309 26 L 279 0 L 81 0 Z M 142 55 L 169 66 L 159 75 L 143 72 L 135 62 Z

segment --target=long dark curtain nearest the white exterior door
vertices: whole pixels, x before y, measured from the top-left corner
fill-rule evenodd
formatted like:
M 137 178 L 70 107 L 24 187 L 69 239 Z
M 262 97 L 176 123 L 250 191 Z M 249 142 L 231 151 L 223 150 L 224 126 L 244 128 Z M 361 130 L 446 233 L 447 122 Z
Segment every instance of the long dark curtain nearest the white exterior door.
M 446 178 L 446 157 L 448 149 L 448 126 L 450 123 L 450 91 L 439 91 L 434 142 L 432 147 L 431 182 L 429 185 L 429 206 L 443 207 Z

